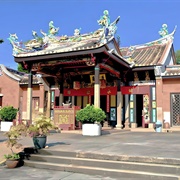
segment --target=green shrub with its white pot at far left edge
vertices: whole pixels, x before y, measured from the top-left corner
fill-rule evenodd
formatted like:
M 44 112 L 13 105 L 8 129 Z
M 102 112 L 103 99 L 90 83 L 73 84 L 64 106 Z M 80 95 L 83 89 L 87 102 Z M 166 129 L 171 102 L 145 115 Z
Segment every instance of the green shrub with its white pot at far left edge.
M 1 131 L 9 131 L 16 119 L 18 109 L 13 106 L 4 106 L 0 109 Z

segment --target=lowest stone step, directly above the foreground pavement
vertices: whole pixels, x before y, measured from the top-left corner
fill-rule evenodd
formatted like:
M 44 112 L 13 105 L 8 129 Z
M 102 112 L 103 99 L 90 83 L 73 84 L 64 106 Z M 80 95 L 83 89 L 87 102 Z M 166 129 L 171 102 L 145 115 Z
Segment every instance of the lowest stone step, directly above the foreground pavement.
M 122 169 L 109 169 L 100 167 L 80 166 L 73 164 L 56 164 L 50 162 L 28 161 L 25 165 L 35 168 L 53 169 L 59 171 L 69 171 L 83 174 L 95 174 L 111 178 L 138 178 L 138 179 L 155 179 L 155 180 L 178 180 L 179 176 L 173 174 L 150 173 L 143 171 L 132 171 Z

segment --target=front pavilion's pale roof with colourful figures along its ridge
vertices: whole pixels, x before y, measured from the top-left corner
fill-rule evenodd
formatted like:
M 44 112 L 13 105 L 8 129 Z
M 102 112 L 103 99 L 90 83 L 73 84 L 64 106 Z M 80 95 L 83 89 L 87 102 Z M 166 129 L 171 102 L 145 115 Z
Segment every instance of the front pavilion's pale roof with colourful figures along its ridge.
M 100 28 L 94 32 L 81 34 L 81 28 L 76 28 L 72 36 L 57 36 L 59 27 L 55 27 L 54 22 L 50 21 L 47 33 L 40 30 L 42 37 L 33 30 L 33 39 L 29 41 L 19 42 L 16 34 L 10 34 L 8 40 L 12 45 L 13 55 L 18 57 L 74 51 L 77 47 L 78 50 L 97 48 L 112 40 L 117 31 L 116 24 L 119 19 L 120 16 L 111 23 L 109 12 L 105 10 L 103 16 L 97 21 Z M 91 44 L 90 47 L 89 44 Z

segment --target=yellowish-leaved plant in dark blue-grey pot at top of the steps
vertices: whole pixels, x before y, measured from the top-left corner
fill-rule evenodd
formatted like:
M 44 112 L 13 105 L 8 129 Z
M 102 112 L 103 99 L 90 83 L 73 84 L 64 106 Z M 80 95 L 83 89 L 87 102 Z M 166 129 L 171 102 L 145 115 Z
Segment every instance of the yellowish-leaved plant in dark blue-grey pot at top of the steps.
M 44 114 L 39 114 L 33 123 L 28 127 L 27 133 L 33 138 L 34 147 L 36 149 L 45 148 L 47 135 L 49 131 L 55 129 L 52 120 Z

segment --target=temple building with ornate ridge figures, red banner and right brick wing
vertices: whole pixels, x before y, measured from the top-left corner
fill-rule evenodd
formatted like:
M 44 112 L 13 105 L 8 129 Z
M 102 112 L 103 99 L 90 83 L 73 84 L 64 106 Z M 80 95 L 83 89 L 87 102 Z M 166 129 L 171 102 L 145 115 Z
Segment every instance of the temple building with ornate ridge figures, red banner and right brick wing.
M 101 107 L 108 124 L 119 129 L 153 129 L 157 120 L 180 127 L 176 27 L 169 34 L 163 24 L 159 39 L 120 47 L 115 38 L 119 20 L 111 22 L 105 10 L 97 21 L 100 28 L 90 33 L 75 29 L 72 36 L 58 36 L 59 28 L 50 21 L 48 32 L 33 31 L 26 43 L 10 35 L 15 62 L 29 71 L 27 120 L 32 119 L 32 76 L 40 75 L 49 94 L 40 97 L 48 104 L 42 112 L 62 129 L 80 128 L 75 112 L 86 104 Z

